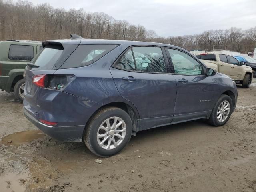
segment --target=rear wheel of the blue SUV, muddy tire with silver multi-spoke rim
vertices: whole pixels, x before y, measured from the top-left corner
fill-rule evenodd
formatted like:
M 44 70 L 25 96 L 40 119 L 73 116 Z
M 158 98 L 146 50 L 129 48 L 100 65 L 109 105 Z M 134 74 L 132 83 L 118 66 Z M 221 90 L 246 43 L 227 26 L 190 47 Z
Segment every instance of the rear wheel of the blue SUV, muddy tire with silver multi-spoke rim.
M 116 132 L 111 130 L 111 128 L 109 129 L 109 126 L 112 127 L 114 125 L 115 120 L 115 125 L 124 122 L 120 126 L 116 127 Z M 107 122 L 109 122 L 109 126 L 107 125 Z M 121 133 L 121 130 L 125 130 L 125 127 L 126 131 Z M 117 134 L 124 138 L 121 139 L 120 136 L 116 136 Z M 105 136 L 98 138 L 98 135 Z M 108 157 L 120 152 L 126 144 L 128 144 L 131 136 L 132 120 L 130 116 L 120 108 L 108 107 L 100 110 L 91 118 L 84 131 L 84 143 L 95 155 Z M 114 145 L 113 139 L 115 140 L 116 146 Z

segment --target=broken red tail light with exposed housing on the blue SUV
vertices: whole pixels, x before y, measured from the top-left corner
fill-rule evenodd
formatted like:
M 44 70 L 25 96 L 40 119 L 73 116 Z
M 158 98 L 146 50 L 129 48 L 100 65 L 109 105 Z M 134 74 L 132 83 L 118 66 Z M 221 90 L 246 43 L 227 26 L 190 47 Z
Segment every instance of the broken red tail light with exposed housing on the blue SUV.
M 72 74 L 36 75 L 33 77 L 32 82 L 38 87 L 63 90 L 75 78 L 76 76 Z

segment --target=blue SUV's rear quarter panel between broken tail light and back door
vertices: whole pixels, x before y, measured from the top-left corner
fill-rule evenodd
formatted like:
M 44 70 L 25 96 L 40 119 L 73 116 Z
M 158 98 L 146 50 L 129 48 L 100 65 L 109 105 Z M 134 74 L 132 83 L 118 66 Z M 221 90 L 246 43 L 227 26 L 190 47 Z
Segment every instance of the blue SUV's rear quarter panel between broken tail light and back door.
M 112 102 L 124 102 L 130 105 L 139 117 L 138 110 L 128 100 L 122 98 L 110 73 L 110 67 L 127 45 L 119 45 L 95 63 L 78 68 L 59 69 L 54 74 L 74 74 L 76 79 L 63 90 L 88 101 L 104 106 Z M 98 110 L 90 111 L 91 115 Z M 85 122 L 87 121 L 84 119 Z

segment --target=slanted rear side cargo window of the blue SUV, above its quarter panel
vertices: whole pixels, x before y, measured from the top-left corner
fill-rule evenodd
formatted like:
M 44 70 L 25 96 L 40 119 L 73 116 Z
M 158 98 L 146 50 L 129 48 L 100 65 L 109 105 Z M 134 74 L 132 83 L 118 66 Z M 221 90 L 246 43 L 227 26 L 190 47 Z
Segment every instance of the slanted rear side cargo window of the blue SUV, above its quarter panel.
M 113 44 L 79 45 L 60 68 L 63 69 L 88 66 L 102 58 L 117 46 L 118 45 Z

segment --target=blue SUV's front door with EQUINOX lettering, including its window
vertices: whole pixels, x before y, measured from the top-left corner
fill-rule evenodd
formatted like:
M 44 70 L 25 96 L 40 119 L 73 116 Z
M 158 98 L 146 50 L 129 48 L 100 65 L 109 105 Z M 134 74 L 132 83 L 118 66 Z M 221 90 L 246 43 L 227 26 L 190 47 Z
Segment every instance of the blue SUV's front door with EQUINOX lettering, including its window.
M 206 118 L 212 110 L 214 83 L 204 74 L 204 66 L 189 54 L 167 49 L 174 67 L 177 97 L 172 123 Z

